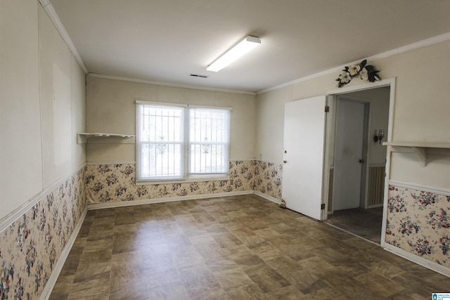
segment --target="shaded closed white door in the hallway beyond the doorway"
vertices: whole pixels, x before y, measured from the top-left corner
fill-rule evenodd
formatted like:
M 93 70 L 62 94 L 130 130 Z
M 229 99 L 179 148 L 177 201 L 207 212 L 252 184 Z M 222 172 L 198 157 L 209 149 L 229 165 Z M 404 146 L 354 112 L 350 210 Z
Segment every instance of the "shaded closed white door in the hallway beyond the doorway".
M 360 207 L 364 103 L 338 100 L 335 127 L 333 211 Z

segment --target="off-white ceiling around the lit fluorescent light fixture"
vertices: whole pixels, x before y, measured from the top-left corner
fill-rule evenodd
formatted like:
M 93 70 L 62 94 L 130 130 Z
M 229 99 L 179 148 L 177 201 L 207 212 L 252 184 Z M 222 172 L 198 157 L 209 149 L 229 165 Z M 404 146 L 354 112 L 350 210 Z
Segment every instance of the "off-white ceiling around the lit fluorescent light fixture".
M 262 91 L 450 32 L 449 0 L 50 2 L 89 72 L 209 89 Z M 206 71 L 248 34 L 261 46 Z

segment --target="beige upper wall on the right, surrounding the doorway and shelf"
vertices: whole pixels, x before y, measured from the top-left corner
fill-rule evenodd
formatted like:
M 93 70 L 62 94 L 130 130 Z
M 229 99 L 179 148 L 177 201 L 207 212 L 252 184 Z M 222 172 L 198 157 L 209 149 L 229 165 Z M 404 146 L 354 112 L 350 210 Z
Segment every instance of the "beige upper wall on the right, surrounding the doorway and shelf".
M 368 63 L 381 71 L 382 78 L 396 79 L 392 141 L 449 143 L 450 84 L 443 72 L 450 67 L 450 41 Z M 259 157 L 282 160 L 284 103 L 336 89 L 337 76 L 326 74 L 257 96 L 256 153 Z M 347 86 L 364 82 L 355 78 Z M 266 134 L 266 129 L 271 134 Z M 392 157 L 393 180 L 450 190 L 450 168 L 435 166 L 448 165 L 449 156 L 435 156 L 434 163 L 425 167 L 426 171 L 420 167 L 417 157 L 411 156 L 405 162 L 406 158 L 397 156 Z

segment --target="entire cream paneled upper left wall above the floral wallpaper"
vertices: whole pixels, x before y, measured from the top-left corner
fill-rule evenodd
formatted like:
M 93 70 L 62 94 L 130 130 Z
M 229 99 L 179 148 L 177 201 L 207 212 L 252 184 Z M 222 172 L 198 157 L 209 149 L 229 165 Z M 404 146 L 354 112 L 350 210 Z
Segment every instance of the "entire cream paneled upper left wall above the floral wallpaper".
M 84 72 L 37 0 L 0 1 L 0 220 L 86 162 Z M 39 30 L 38 30 L 39 28 Z

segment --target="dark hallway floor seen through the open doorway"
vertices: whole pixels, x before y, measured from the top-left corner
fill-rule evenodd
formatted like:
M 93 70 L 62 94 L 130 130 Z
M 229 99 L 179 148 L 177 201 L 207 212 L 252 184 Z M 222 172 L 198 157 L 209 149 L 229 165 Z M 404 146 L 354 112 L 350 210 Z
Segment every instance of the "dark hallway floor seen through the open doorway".
M 383 207 L 344 209 L 328 214 L 326 223 L 380 244 Z

